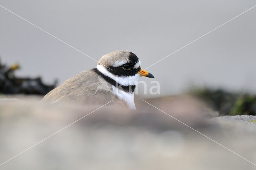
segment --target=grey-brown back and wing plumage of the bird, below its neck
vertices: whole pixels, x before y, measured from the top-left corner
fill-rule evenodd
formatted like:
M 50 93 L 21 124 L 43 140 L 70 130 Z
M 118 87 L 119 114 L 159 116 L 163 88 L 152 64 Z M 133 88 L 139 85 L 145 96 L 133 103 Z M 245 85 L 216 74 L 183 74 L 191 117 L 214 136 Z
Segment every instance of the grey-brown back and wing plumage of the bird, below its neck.
M 72 101 L 81 104 L 106 104 L 111 100 L 112 104 L 127 106 L 112 93 L 112 86 L 93 70 L 72 76 L 42 99 L 45 102 Z

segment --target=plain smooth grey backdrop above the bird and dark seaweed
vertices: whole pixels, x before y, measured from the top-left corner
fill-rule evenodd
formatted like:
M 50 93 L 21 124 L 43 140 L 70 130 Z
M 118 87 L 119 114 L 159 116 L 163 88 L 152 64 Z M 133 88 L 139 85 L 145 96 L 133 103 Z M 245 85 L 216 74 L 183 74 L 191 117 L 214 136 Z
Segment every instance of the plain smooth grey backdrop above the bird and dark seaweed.
M 256 1 L 0 0 L 0 5 L 96 60 L 108 52 L 130 50 L 146 68 Z M 148 68 L 160 82 L 160 93 L 177 94 L 190 85 L 256 92 L 255 17 L 253 8 Z M 94 60 L 3 8 L 0 56 L 4 63 L 22 66 L 18 75 L 42 76 L 48 83 L 55 78 L 62 83 L 96 67 Z M 141 80 L 149 88 L 153 79 Z

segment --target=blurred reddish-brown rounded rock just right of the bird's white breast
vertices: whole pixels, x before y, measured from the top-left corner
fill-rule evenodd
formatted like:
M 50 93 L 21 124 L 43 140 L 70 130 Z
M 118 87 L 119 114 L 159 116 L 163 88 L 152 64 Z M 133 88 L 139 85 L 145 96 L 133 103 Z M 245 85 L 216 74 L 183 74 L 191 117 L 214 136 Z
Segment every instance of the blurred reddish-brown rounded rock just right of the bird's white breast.
M 213 116 L 213 111 L 208 110 L 208 106 L 201 100 L 188 95 L 150 98 L 145 101 L 191 126 L 202 126 L 206 118 L 216 117 L 216 115 Z M 156 110 L 146 102 L 135 100 L 136 108 L 148 112 Z M 179 122 L 174 123 L 179 124 Z

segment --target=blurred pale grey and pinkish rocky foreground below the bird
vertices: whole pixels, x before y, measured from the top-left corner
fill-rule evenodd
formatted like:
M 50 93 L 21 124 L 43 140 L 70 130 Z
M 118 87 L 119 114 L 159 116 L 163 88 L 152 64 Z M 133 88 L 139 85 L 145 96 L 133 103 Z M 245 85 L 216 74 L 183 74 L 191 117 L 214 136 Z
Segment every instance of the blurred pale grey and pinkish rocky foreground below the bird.
M 255 117 L 212 119 L 187 96 L 146 100 L 160 110 L 136 100 L 136 111 L 20 99 L 0 100 L 0 164 L 33 147 L 3 170 L 256 168 Z

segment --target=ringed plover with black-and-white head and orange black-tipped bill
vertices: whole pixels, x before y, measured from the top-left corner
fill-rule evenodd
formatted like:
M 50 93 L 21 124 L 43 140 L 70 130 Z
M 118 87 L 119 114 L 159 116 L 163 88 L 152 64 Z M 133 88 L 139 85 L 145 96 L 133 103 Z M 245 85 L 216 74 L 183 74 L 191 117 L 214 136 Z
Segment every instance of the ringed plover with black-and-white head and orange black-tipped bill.
M 141 69 L 139 58 L 128 50 L 117 50 L 100 58 L 96 68 L 80 72 L 42 98 L 51 104 L 72 101 L 81 104 L 113 104 L 136 109 L 134 89 L 139 77 L 154 76 Z

